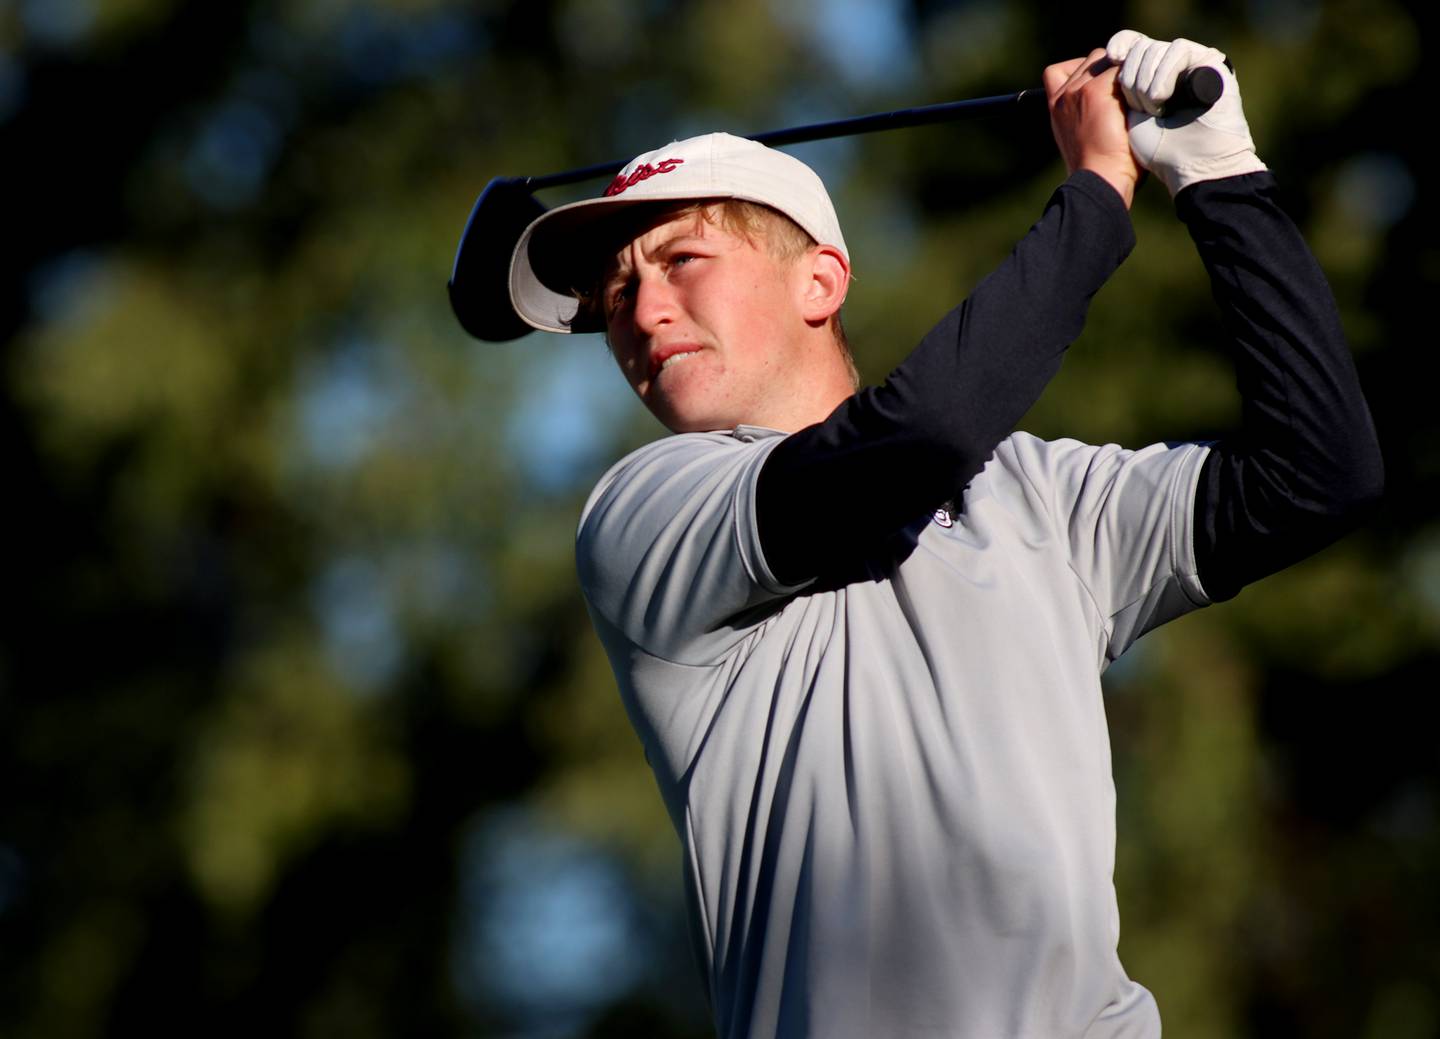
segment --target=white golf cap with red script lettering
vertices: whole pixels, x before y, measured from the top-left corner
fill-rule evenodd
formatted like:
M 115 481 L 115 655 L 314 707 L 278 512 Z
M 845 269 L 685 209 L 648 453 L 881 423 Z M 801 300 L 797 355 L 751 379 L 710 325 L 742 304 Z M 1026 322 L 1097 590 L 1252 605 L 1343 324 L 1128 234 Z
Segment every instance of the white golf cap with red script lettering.
M 516 312 L 547 332 L 599 331 L 576 319 L 579 301 L 572 289 L 589 289 L 599 273 L 583 269 L 586 259 L 593 265 L 593 252 L 577 236 L 626 209 L 698 199 L 762 203 L 850 259 L 835 207 L 814 170 L 743 137 L 706 134 L 636 155 L 599 199 L 557 206 L 526 227 L 510 260 Z

